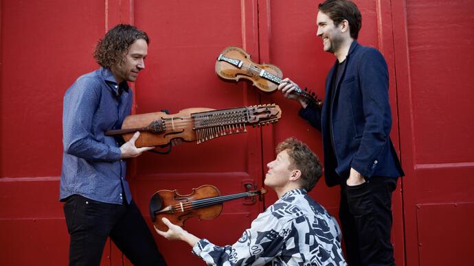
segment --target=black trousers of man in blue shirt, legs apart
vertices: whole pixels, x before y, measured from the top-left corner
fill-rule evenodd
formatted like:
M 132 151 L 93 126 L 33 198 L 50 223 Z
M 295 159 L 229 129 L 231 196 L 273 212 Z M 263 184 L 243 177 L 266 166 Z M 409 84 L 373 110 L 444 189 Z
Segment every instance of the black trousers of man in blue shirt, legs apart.
M 69 265 L 100 265 L 107 237 L 133 265 L 166 265 L 137 205 L 106 204 L 71 195 L 64 205 Z

